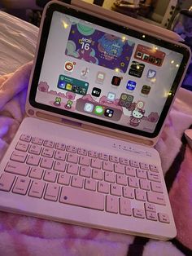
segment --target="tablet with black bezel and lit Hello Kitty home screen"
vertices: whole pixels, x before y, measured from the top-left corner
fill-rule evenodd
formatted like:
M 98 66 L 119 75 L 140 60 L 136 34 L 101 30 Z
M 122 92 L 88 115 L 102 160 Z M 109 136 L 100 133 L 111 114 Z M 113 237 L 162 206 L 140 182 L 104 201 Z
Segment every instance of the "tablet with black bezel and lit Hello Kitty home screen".
M 189 48 L 57 2 L 43 19 L 33 108 L 124 134 L 159 135 Z

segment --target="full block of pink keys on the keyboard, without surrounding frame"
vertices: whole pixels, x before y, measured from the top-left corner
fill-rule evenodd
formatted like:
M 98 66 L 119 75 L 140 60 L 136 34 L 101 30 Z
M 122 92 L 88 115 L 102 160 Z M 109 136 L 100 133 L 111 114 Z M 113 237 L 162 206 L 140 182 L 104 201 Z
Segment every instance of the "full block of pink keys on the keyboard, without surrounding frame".
M 157 166 L 26 134 L 0 177 L 0 190 L 170 223 L 168 213 L 157 207 L 166 205 Z

